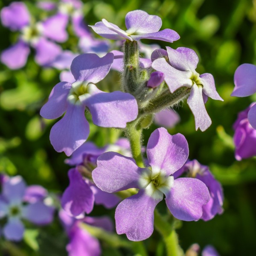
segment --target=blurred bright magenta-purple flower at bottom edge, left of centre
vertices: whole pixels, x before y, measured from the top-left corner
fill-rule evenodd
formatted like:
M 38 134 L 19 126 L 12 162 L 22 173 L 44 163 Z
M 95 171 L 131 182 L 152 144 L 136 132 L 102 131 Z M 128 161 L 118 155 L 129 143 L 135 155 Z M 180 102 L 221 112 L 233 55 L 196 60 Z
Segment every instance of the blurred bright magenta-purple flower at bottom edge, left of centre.
M 67 252 L 69 256 L 100 256 L 101 248 L 99 241 L 91 236 L 82 226 L 82 223 L 91 226 L 100 227 L 106 231 L 113 230 L 113 224 L 108 217 L 85 217 L 77 220 L 72 218 L 63 210 L 59 212 L 64 229 L 70 239 L 67 244 Z

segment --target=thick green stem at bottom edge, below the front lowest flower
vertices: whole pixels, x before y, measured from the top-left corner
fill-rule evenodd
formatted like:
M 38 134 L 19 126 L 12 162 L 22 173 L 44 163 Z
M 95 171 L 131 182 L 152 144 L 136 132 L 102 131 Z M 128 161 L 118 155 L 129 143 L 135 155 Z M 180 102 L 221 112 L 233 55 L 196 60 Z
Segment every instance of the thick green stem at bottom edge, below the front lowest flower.
M 166 244 L 167 256 L 182 256 L 183 252 L 179 246 L 178 237 L 172 224 L 169 224 L 163 216 L 155 209 L 154 226 L 156 230 L 163 236 Z

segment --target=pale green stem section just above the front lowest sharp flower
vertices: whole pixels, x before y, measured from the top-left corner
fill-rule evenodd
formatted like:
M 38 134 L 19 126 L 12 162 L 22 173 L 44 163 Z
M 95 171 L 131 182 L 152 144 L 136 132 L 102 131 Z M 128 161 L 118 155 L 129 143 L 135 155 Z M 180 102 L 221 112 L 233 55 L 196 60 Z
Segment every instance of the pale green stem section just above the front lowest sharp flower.
M 139 167 L 145 167 L 141 154 L 142 128 L 138 125 L 138 119 L 126 126 L 126 137 L 130 141 L 131 154 Z

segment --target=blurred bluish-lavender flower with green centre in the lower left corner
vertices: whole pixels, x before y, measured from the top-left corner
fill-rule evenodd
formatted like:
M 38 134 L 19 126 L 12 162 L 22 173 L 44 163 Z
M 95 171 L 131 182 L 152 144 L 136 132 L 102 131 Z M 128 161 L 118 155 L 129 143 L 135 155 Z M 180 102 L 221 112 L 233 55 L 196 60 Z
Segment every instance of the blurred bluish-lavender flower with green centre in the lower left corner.
M 0 218 L 7 217 L 3 235 L 8 240 L 20 241 L 24 233 L 21 219 L 37 225 L 52 222 L 53 208 L 44 204 L 45 190 L 41 186 L 29 186 L 22 177 L 8 177 L 2 184 L 0 195 Z M 24 204 L 26 203 L 26 204 Z

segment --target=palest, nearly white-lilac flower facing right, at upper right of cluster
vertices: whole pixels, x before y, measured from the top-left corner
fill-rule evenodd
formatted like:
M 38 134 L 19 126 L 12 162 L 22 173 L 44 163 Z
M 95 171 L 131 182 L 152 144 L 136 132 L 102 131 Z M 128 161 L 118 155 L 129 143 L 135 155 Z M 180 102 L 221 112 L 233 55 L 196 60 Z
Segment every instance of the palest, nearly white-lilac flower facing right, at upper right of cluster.
M 189 48 L 179 47 L 176 50 L 166 47 L 152 53 L 152 67 L 165 75 L 165 81 L 171 93 L 180 87 L 191 89 L 187 103 L 195 116 L 195 128 L 205 131 L 212 123 L 204 106 L 205 98 L 223 100 L 218 95 L 213 76 L 209 73 L 199 75 L 195 69 L 198 55 Z M 169 62 L 166 61 L 166 54 Z M 160 58 L 157 58 L 158 57 Z

